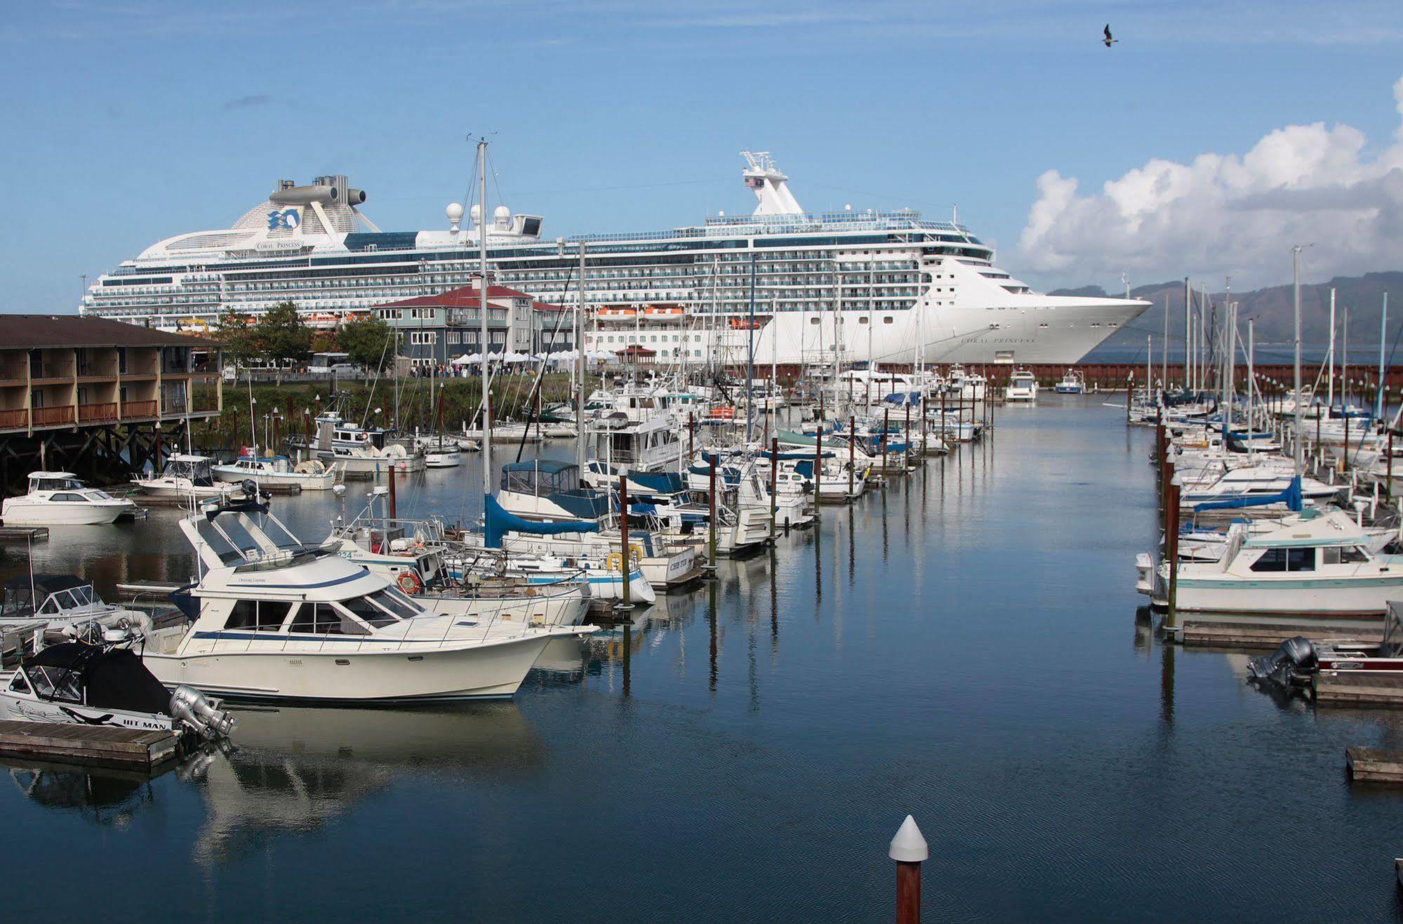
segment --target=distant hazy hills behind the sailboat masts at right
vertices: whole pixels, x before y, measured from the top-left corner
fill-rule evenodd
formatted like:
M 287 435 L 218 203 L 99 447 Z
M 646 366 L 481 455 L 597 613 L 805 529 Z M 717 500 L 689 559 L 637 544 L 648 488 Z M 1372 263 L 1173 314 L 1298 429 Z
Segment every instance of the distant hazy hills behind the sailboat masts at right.
M 1306 344 L 1323 344 L 1330 337 L 1330 289 L 1336 291 L 1336 323 L 1344 317 L 1344 309 L 1350 309 L 1350 344 L 1361 350 L 1368 344 L 1378 348 L 1379 343 L 1379 312 L 1383 306 L 1383 293 L 1390 292 L 1388 343 L 1403 327 L 1403 272 L 1367 272 L 1362 277 L 1336 277 L 1329 282 L 1301 286 L 1301 338 Z M 1056 289 L 1049 295 L 1083 295 L 1106 296 L 1106 289 L 1099 285 L 1085 285 L 1078 289 Z M 1127 348 L 1143 345 L 1146 334 L 1155 334 L 1155 345 L 1164 331 L 1164 303 L 1169 303 L 1169 337 L 1173 345 L 1183 344 L 1184 338 L 1184 282 L 1155 282 L 1131 289 L 1131 295 L 1142 298 L 1152 306 L 1129 326 L 1122 327 L 1097 351 L 1114 350 L 1122 352 Z M 1218 316 L 1222 317 L 1223 293 L 1209 292 L 1209 299 L 1218 306 Z M 1274 285 L 1266 289 L 1249 292 L 1233 292 L 1232 301 L 1237 302 L 1237 323 L 1246 336 L 1247 319 L 1256 319 L 1257 343 L 1282 344 L 1292 340 L 1292 312 L 1291 312 L 1291 284 Z M 1094 354 L 1093 357 L 1094 358 Z M 1360 357 L 1362 359 L 1362 354 Z

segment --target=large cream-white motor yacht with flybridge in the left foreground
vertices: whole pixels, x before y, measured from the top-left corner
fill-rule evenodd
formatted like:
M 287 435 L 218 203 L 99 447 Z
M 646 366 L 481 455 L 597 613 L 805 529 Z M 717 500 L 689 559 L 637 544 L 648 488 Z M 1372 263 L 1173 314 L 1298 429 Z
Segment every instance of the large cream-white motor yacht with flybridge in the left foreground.
M 303 543 L 244 490 L 181 520 L 201 573 L 177 602 L 194 622 L 142 649 L 166 685 L 342 704 L 506 698 L 551 639 L 595 631 L 431 614 L 338 546 Z

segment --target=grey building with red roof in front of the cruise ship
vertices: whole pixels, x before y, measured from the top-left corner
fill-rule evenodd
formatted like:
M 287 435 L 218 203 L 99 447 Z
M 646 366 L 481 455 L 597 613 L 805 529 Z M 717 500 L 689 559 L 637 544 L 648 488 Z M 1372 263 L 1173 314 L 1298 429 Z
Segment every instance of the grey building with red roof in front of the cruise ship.
M 376 305 L 376 317 L 403 334 L 400 355 L 410 365 L 446 365 L 455 357 L 483 351 L 481 284 L 436 295 Z M 505 285 L 487 286 L 487 352 L 557 352 L 574 348 L 570 309 L 537 302 Z

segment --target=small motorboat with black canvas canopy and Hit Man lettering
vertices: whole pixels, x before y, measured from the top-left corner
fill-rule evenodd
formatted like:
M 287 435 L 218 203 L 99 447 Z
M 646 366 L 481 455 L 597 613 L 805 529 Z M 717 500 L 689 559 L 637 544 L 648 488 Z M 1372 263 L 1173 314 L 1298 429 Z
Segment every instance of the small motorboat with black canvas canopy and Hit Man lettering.
M 121 633 L 118 633 L 121 635 Z M 32 654 L 0 682 L 0 716 L 227 737 L 236 719 L 194 687 L 174 692 L 121 642 L 65 642 Z

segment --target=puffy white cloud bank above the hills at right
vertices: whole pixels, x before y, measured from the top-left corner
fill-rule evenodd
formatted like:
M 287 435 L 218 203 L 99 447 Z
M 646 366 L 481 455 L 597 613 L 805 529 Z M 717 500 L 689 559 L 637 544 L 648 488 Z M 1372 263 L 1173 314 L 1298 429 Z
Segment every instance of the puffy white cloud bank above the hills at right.
M 1313 243 L 1312 277 L 1403 267 L 1403 79 L 1400 126 L 1376 156 L 1348 125 L 1288 125 L 1244 154 L 1150 160 L 1079 195 L 1048 170 L 1019 237 L 1019 265 L 1076 284 L 1129 270 L 1139 281 L 1232 274 L 1268 284 L 1291 244 Z

